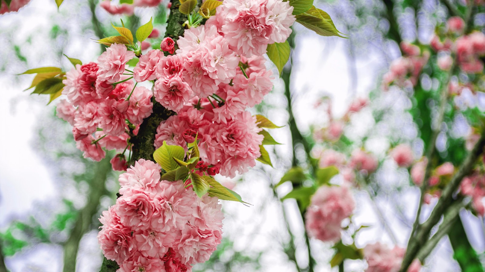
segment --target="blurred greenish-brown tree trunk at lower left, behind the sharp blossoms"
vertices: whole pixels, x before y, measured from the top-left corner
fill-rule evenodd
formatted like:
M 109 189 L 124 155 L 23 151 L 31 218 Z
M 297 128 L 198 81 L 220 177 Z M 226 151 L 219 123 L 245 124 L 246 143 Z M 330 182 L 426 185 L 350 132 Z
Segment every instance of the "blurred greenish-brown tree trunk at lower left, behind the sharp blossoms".
M 93 216 L 97 214 L 101 196 L 106 192 L 105 182 L 108 174 L 111 171 L 111 156 L 106 155 L 106 158 L 96 164 L 96 170 L 93 180 L 89 183 L 89 194 L 86 206 L 78 214 L 78 218 L 74 223 L 69 238 L 64 243 L 64 268 L 63 272 L 76 271 L 76 258 L 79 250 L 79 242 L 82 236 L 90 230 L 93 221 Z

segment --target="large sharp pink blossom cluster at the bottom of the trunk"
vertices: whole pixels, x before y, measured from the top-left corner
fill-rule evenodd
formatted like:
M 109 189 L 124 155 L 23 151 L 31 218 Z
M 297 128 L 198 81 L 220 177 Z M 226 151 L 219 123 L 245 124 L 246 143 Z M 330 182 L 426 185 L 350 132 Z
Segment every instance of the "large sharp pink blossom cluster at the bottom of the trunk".
M 98 241 L 119 272 L 192 271 L 221 242 L 218 199 L 160 179 L 161 167 L 140 159 L 120 175 L 122 196 L 100 218 Z

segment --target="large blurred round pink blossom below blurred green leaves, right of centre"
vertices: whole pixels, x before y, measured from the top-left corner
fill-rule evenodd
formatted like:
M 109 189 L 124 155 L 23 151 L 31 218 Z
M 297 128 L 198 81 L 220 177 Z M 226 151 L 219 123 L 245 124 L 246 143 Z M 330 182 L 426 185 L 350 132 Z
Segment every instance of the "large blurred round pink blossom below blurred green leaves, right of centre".
M 321 186 L 307 208 L 306 228 L 311 237 L 323 242 L 340 239 L 340 223 L 355 208 L 354 197 L 345 186 Z

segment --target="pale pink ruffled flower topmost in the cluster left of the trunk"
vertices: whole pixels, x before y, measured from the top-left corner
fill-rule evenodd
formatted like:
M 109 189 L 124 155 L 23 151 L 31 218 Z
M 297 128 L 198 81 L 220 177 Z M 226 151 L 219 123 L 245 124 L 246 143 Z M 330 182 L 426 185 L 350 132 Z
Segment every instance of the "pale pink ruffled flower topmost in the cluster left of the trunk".
M 112 44 L 97 58 L 98 77 L 110 83 L 119 81 L 125 72 L 125 64 L 134 57 L 135 53 L 128 51 L 125 45 Z

